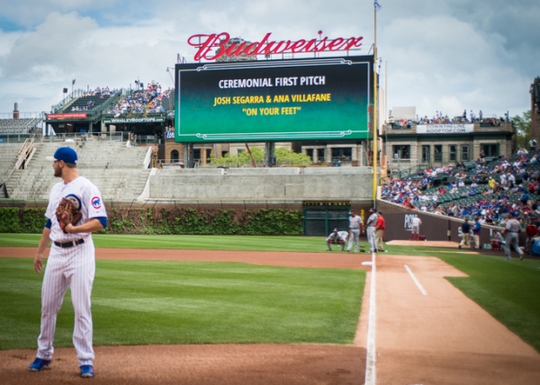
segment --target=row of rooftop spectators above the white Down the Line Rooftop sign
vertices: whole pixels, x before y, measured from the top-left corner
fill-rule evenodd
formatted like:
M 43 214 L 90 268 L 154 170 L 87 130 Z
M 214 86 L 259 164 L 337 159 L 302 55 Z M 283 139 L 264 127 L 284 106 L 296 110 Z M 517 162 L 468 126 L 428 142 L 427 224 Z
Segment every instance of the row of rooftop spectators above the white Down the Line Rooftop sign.
M 424 117 L 419 117 L 417 115 L 416 120 L 401 118 L 395 120 L 393 116 L 390 117 L 389 123 L 393 127 L 400 127 L 402 129 L 410 129 L 413 125 L 421 124 L 472 124 L 472 123 L 481 123 L 482 125 L 487 126 L 500 126 L 502 121 L 509 121 L 508 114 L 505 113 L 504 117 L 484 117 L 482 110 L 478 112 L 478 115 L 474 114 L 473 110 L 467 116 L 467 110 L 461 116 L 455 116 L 450 118 L 448 115 L 443 114 L 443 112 L 437 111 L 435 116 L 428 118 L 428 115 Z

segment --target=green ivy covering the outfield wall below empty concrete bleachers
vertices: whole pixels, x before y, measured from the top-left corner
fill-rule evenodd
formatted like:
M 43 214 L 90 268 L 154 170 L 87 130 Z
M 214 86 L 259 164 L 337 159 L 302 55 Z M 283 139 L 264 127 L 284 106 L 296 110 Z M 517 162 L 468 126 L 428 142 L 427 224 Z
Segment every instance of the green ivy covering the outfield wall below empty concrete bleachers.
M 0 233 L 41 233 L 45 208 L 0 207 Z M 302 210 L 258 208 L 107 208 L 101 234 L 302 235 Z

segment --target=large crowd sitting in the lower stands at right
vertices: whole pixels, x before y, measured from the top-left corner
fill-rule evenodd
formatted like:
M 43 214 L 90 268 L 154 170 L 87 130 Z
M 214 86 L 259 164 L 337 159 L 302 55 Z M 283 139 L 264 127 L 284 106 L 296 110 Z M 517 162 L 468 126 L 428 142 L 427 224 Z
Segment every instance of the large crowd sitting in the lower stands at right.
M 478 217 L 482 224 L 500 227 L 506 225 L 505 214 L 518 219 L 522 228 L 531 220 L 540 225 L 540 151 L 520 148 L 512 157 L 487 164 L 483 159 L 469 169 L 458 163 L 428 168 L 415 177 L 390 178 L 382 186 L 382 199 L 439 215 Z

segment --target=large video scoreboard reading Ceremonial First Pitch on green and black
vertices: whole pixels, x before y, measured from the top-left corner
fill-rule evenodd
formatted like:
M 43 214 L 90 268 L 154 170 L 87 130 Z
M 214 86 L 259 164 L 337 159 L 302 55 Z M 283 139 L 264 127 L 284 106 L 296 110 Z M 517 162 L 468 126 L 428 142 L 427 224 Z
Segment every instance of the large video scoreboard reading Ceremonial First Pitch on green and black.
M 177 64 L 175 141 L 369 139 L 373 56 Z

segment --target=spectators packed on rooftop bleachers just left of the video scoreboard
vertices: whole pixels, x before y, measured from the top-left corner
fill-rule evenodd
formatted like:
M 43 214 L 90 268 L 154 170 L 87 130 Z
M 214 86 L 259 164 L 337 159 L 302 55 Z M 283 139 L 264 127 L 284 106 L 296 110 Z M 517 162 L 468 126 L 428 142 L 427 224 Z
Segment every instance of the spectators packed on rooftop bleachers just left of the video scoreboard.
M 107 113 L 120 117 L 130 113 L 166 112 L 163 100 L 168 98 L 171 92 L 170 88 L 162 92 L 161 85 L 158 84 L 148 85 L 122 97 Z

